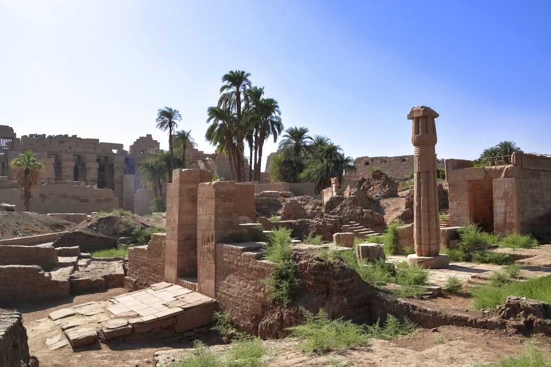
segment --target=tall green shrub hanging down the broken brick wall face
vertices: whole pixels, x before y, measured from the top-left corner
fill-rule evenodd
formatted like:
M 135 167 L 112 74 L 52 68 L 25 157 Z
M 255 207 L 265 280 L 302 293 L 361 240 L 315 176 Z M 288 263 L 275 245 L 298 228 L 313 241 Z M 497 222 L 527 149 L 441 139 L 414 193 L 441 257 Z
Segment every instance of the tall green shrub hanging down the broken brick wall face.
M 264 259 L 275 265 L 272 275 L 263 278 L 261 282 L 269 287 L 273 299 L 288 305 L 300 288 L 299 264 L 293 260 L 291 250 L 291 229 L 279 228 L 268 234 Z

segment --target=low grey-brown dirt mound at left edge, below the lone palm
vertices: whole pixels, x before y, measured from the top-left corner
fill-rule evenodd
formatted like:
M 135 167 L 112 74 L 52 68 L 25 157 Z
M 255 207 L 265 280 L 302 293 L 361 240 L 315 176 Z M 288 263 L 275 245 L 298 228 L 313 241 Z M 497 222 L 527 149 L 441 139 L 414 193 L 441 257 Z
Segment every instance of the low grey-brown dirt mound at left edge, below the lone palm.
M 28 211 L 0 211 L 0 239 L 68 231 L 73 222 Z

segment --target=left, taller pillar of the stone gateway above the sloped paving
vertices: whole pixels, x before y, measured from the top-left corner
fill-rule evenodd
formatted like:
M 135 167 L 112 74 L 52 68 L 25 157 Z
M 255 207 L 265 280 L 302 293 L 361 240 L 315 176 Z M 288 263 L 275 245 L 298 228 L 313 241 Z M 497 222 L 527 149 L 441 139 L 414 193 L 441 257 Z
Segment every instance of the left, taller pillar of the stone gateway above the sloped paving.
M 165 280 L 197 277 L 197 185 L 212 179 L 201 169 L 175 169 L 166 188 Z

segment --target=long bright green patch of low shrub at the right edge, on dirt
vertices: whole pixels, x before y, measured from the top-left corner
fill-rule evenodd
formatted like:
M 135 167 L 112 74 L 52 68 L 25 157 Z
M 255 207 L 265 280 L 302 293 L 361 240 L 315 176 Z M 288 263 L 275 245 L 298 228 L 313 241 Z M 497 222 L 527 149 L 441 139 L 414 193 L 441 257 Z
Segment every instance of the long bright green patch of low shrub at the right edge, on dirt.
M 494 309 L 495 306 L 504 304 L 509 295 L 551 303 L 551 276 L 532 278 L 525 282 L 510 282 L 500 287 L 485 284 L 472 287 L 471 294 L 476 309 Z

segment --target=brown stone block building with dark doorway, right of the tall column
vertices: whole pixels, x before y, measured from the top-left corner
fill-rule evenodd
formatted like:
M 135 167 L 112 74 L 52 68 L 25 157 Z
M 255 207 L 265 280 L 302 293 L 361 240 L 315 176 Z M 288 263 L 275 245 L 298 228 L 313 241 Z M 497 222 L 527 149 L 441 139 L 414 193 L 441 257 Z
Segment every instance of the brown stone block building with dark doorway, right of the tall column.
M 497 234 L 551 232 L 551 157 L 514 153 L 511 165 L 446 160 L 450 224 Z

